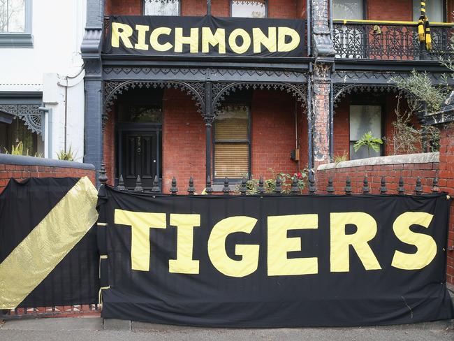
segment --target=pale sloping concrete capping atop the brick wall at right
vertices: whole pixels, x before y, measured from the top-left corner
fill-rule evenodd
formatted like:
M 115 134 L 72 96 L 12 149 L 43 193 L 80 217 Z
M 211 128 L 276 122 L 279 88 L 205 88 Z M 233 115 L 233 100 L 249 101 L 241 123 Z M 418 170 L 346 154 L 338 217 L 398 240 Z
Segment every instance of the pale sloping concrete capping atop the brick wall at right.
M 338 163 L 332 162 L 330 164 L 318 166 L 317 170 L 395 164 L 430 164 L 433 162 L 439 162 L 439 159 L 439 152 L 391 155 L 389 157 L 369 157 L 367 159 L 342 161 Z

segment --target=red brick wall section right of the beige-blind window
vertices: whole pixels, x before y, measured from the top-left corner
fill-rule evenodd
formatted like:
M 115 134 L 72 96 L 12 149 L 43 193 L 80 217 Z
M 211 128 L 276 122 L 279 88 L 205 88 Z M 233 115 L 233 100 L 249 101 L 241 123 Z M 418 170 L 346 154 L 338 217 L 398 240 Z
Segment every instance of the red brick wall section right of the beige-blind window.
M 252 175 L 271 177 L 270 168 L 277 173 L 298 172 L 298 162 L 290 159 L 290 152 L 295 149 L 295 100 L 292 96 L 279 91 L 258 90 L 254 92 L 251 111 Z M 307 140 L 301 117 L 299 137 Z M 301 164 L 304 168 L 307 157 Z

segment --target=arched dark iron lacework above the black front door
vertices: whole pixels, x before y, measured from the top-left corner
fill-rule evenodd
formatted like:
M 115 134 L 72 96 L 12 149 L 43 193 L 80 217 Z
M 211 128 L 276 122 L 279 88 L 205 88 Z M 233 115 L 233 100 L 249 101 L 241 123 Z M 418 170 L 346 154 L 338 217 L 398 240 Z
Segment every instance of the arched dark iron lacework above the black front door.
M 122 81 L 108 81 L 104 82 L 104 108 L 105 111 L 110 111 L 112 104 L 118 98 L 119 94 L 123 94 L 129 89 L 138 87 L 142 89 L 161 88 L 161 89 L 181 89 L 186 94 L 191 95 L 191 98 L 196 101 L 198 113 L 205 111 L 205 84 L 203 82 L 180 82 L 171 80 L 126 80 Z

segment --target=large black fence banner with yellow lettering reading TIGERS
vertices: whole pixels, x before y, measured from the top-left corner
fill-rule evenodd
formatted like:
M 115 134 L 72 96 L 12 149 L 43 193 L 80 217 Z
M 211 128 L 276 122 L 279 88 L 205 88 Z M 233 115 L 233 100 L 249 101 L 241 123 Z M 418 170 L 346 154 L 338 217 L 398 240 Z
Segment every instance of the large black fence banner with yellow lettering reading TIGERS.
M 100 195 L 105 318 L 263 328 L 454 317 L 446 194 Z

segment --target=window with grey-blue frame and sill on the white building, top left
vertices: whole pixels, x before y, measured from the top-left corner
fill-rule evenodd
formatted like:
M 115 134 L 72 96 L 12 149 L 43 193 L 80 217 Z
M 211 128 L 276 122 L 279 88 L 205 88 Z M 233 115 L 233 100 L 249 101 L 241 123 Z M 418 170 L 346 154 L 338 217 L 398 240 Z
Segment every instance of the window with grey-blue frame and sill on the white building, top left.
M 0 48 L 31 48 L 31 0 L 0 0 Z

